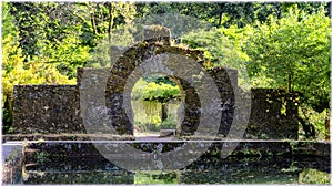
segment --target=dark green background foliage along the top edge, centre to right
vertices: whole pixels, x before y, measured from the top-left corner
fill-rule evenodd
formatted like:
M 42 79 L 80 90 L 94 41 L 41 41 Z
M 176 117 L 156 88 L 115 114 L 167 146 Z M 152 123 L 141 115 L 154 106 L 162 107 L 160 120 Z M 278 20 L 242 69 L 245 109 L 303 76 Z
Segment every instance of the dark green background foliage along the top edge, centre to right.
M 309 13 L 319 7 L 324 7 L 326 12 L 330 10 L 326 2 L 139 2 L 135 7 L 140 17 L 178 13 L 204 20 L 218 28 L 244 28 L 255 21 L 264 22 L 270 15 L 280 19 L 294 4 Z

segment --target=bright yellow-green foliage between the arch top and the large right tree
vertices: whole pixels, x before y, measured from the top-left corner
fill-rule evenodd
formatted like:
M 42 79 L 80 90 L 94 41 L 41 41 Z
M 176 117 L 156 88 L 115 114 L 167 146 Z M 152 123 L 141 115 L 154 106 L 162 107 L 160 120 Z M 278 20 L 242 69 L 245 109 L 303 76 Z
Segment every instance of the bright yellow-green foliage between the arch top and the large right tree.
M 245 44 L 245 39 L 252 32 L 250 27 L 212 28 L 209 31 L 190 32 L 182 37 L 182 42 L 191 49 L 204 51 L 204 65 L 208 69 L 212 66 L 236 69 L 239 84 L 242 89 L 250 89 L 245 69 L 245 61 L 249 60 L 249 56 L 242 51 L 242 48 Z

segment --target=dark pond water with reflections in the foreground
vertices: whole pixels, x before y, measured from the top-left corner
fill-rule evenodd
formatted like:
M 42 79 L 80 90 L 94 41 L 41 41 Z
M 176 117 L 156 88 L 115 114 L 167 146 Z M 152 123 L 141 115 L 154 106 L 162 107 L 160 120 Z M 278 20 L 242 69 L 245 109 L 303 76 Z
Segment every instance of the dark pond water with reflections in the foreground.
M 128 172 L 103 157 L 40 159 L 26 163 L 16 184 L 329 184 L 329 163 L 319 157 L 205 157 L 179 170 Z

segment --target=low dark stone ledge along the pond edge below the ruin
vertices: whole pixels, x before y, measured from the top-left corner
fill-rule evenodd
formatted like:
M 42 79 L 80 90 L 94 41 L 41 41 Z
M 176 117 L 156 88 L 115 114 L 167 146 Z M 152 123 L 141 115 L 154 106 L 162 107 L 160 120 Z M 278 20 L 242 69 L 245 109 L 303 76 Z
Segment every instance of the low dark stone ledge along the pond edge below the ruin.
M 63 149 L 65 155 L 80 156 L 80 153 L 95 155 L 95 145 L 114 145 L 118 148 L 122 145 L 130 145 L 134 148 L 142 149 L 143 152 L 153 152 L 157 146 L 162 146 L 161 152 L 170 152 L 174 148 L 181 147 L 183 144 L 189 144 L 193 150 L 198 146 L 210 146 L 206 154 L 220 154 L 222 147 L 229 144 L 239 143 L 236 148 L 232 152 L 231 156 L 255 156 L 255 155 L 285 155 L 285 156 L 320 156 L 330 159 L 331 143 L 330 142 L 306 142 L 306 141 L 253 141 L 253 139 L 229 139 L 229 141 L 169 141 L 169 142 L 147 142 L 147 141 L 33 141 L 28 142 L 27 148 L 40 149 L 43 152 L 60 152 Z M 57 149 L 54 149 L 57 147 Z M 69 148 L 70 147 L 70 148 Z M 74 150 L 74 152 L 73 152 Z M 245 150 L 245 152 L 244 152 Z M 56 154 L 57 155 L 57 154 Z

